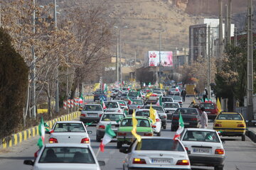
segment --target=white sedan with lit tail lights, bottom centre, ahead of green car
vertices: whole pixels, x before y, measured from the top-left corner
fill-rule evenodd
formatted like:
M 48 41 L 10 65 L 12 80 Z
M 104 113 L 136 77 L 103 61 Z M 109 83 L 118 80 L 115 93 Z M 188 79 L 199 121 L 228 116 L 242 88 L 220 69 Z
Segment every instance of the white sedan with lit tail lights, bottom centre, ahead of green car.
M 142 137 L 119 152 L 127 154 L 123 169 L 191 169 L 188 154 L 179 140 L 170 137 Z

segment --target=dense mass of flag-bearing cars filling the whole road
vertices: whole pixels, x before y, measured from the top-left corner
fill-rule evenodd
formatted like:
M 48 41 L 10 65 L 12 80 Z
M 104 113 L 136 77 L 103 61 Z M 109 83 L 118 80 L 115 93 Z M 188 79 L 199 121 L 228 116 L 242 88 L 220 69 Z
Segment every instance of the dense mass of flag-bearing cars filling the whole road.
M 35 159 L 23 164 L 33 169 L 101 169 L 105 162 L 98 161 L 97 155 L 114 141 L 116 149 L 126 154 L 121 169 L 223 169 L 225 149 L 220 137 L 240 136 L 245 141 L 242 115 L 221 111 L 218 99 L 214 103 L 191 97 L 185 107 L 182 86 L 160 87 L 96 90 L 93 102 L 80 105 L 79 120 L 57 121 L 50 129 L 42 118 Z M 208 127 L 209 120 L 213 128 Z M 168 123 L 171 129 L 166 129 Z M 89 126 L 95 128 L 96 153 Z M 164 137 L 163 130 L 174 132 L 174 137 Z

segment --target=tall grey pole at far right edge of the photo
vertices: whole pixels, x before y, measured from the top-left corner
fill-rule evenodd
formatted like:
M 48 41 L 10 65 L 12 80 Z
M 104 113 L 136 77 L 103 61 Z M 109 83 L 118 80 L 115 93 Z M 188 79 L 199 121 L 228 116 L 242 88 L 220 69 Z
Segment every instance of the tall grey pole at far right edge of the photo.
M 253 119 L 252 0 L 247 0 L 247 120 Z

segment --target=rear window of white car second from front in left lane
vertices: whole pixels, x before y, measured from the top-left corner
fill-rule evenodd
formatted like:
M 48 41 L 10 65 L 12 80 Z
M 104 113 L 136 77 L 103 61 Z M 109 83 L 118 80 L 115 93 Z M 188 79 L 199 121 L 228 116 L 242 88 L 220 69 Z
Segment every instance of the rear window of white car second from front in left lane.
M 57 123 L 53 132 L 85 132 L 82 123 Z

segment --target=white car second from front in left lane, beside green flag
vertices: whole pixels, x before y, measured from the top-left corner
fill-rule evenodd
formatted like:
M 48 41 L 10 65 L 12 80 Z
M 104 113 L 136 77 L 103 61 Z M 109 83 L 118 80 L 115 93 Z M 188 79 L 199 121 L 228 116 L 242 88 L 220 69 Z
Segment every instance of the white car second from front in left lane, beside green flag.
M 58 121 L 50 132 L 49 143 L 90 144 L 92 131 L 87 131 L 81 121 Z

